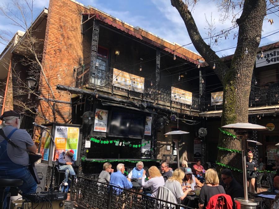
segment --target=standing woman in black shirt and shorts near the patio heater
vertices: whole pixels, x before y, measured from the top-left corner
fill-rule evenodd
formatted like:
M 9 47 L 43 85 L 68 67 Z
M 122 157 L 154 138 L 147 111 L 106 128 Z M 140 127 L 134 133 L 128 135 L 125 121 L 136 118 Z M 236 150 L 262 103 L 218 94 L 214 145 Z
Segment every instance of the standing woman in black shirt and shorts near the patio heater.
M 253 160 L 253 152 L 249 151 L 247 153 L 247 160 L 246 160 L 248 192 L 255 193 L 255 179 L 257 176 L 255 173 L 256 170 L 257 170 L 257 163 L 255 160 Z

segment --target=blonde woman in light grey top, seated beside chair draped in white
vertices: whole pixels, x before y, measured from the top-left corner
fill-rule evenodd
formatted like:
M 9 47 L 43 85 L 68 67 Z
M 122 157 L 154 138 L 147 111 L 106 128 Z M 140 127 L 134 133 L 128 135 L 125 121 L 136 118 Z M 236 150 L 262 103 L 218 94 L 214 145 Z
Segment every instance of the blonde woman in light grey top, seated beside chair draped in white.
M 182 179 L 184 178 L 184 172 L 179 168 L 173 172 L 173 176 L 166 180 L 165 187 L 170 189 L 170 191 L 176 197 L 176 201 L 178 204 L 181 203 L 189 191 L 192 191 L 191 188 L 186 189 L 186 187 L 182 187 Z M 183 191 L 183 189 L 185 191 Z

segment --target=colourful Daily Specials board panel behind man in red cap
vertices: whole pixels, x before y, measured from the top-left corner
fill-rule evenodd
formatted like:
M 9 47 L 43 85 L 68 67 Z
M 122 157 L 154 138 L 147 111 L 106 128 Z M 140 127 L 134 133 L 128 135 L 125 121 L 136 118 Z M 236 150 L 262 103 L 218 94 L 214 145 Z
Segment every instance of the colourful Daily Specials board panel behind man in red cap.
M 77 160 L 79 128 L 70 126 L 56 126 L 54 142 L 56 145 L 54 160 L 59 158 L 61 152 L 71 149 L 74 151 L 73 159 Z

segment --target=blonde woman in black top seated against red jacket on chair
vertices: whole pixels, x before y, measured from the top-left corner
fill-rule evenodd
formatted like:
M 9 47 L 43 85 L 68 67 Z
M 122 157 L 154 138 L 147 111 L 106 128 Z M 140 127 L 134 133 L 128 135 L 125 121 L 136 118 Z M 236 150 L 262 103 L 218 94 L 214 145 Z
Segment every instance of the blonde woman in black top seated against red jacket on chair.
M 206 208 L 209 199 L 215 194 L 226 194 L 224 187 L 219 185 L 218 174 L 215 169 L 209 168 L 205 174 L 206 185 L 201 187 L 199 208 Z

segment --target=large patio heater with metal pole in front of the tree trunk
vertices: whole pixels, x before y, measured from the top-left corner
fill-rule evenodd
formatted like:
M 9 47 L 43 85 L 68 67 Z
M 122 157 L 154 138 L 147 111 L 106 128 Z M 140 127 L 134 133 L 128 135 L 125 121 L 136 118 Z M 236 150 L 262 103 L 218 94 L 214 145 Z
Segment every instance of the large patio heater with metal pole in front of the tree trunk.
M 236 204 L 240 204 L 241 208 L 259 208 L 259 201 L 254 199 L 248 199 L 248 188 L 247 188 L 247 173 L 246 173 L 246 140 L 248 139 L 249 130 L 263 131 L 267 130 L 266 127 L 250 123 L 236 123 L 224 125 L 221 128 L 233 129 L 237 138 L 241 141 L 241 155 L 242 155 L 242 170 L 243 170 L 243 187 L 244 187 L 244 198 L 234 198 Z M 248 140 L 247 140 L 248 141 Z M 252 141 L 252 140 L 249 140 Z M 256 142 L 256 141 L 253 141 Z M 256 142 L 257 143 L 257 142 Z M 259 143 L 259 142 L 258 142 Z

